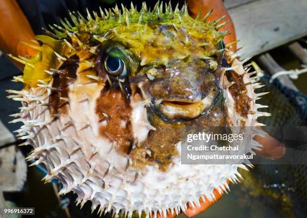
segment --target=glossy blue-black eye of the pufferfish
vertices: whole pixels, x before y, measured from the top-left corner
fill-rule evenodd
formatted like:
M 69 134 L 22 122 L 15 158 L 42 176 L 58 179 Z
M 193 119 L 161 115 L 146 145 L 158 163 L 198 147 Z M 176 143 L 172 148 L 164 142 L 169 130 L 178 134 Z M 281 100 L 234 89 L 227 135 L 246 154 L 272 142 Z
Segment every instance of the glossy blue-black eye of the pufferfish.
M 118 57 L 107 55 L 104 60 L 104 67 L 106 71 L 114 77 L 123 79 L 127 75 L 125 63 Z

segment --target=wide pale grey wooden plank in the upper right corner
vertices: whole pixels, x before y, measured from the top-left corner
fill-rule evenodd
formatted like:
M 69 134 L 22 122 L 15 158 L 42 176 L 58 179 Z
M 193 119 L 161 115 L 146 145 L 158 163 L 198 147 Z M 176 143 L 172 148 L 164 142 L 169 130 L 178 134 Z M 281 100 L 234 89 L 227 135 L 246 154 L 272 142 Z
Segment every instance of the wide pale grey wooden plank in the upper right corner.
M 306 0 L 258 0 L 229 10 L 245 56 L 307 35 L 306 12 Z

